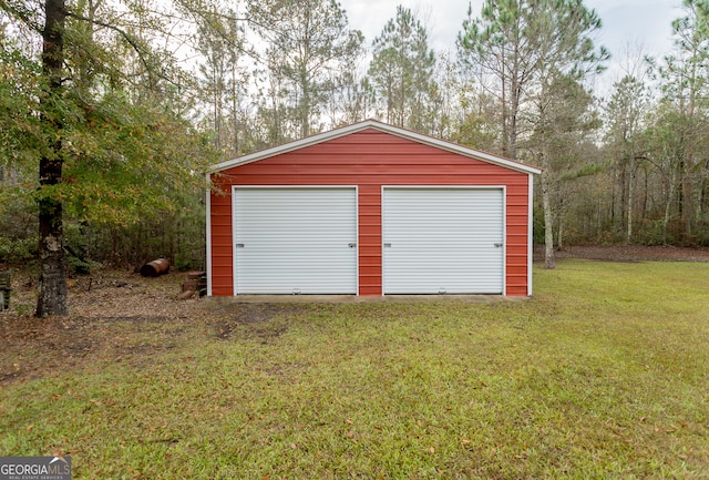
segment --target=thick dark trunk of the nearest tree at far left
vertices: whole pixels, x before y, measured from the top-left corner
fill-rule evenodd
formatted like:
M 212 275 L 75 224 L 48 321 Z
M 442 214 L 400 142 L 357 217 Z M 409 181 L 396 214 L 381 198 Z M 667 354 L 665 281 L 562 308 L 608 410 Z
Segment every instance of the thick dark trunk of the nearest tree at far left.
M 47 0 L 44 12 L 42 69 L 44 76 L 49 80 L 49 91 L 42 98 L 41 103 L 42 110 L 49 110 L 55 108 L 52 103 L 60 98 L 62 88 L 63 37 L 66 18 L 64 0 Z M 42 121 L 56 123 L 55 120 L 50 120 L 47 115 Z M 59 130 L 61 125 L 55 124 L 54 126 Z M 68 315 L 62 204 L 52 197 L 51 193 L 42 192 L 43 187 L 56 185 L 62 178 L 61 140 L 53 141 L 51 146 L 49 154 L 40 159 L 39 168 L 40 279 L 35 312 L 38 317 Z

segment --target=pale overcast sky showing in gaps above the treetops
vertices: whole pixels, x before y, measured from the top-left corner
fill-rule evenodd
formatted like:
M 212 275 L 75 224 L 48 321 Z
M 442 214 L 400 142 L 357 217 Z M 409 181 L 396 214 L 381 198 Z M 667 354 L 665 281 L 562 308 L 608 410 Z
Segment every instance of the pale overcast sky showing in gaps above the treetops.
M 387 21 L 403 4 L 419 12 L 430 31 L 436 51 L 455 51 L 455 38 L 467 13 L 466 0 L 340 0 L 350 25 L 361 30 L 368 45 L 381 33 Z M 480 14 L 483 0 L 472 0 L 473 13 Z M 629 51 L 641 47 L 645 54 L 660 58 L 672 45 L 671 21 L 682 16 L 681 0 L 585 0 L 603 20 L 596 43 L 607 47 L 613 57 L 606 82 L 618 80 L 617 71 Z M 628 48 L 631 45 L 631 48 Z M 603 81 L 603 80 L 602 80 Z

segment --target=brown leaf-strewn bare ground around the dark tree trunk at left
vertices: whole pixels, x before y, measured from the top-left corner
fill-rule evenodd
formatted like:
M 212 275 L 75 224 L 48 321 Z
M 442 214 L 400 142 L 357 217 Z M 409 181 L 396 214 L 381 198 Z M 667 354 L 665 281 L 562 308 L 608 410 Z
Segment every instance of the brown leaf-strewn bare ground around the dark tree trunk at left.
M 34 287 L 27 275 L 14 275 L 11 308 L 0 313 L 0 385 L 111 361 L 143 365 L 199 338 L 273 341 L 287 331 L 288 316 L 305 308 L 196 296 L 177 300 L 185 278 L 110 272 L 72 279 L 71 315 L 35 318 Z

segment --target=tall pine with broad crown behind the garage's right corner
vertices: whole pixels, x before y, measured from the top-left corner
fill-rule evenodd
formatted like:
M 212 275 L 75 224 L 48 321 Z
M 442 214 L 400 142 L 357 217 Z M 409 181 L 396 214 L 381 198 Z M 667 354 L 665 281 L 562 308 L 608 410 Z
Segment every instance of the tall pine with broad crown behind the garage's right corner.
M 476 71 L 480 84 L 495 95 L 501 110 L 500 150 L 516 159 L 525 140 L 524 132 L 545 122 L 544 110 L 536 105 L 547 103 L 558 79 L 574 80 L 597 71 L 609 54 L 596 50 L 592 34 L 600 28 L 600 19 L 587 9 L 583 0 L 486 0 L 481 17 L 463 22 L 459 34 L 461 61 Z M 526 114 L 526 115 L 525 115 Z M 545 149 L 537 149 L 537 153 Z M 545 185 L 553 181 L 551 159 L 537 155 L 535 161 L 544 167 L 542 196 L 545 210 L 552 208 L 547 195 L 554 190 Z M 545 213 L 551 219 L 551 212 Z M 546 224 L 546 266 L 554 267 L 553 231 Z

